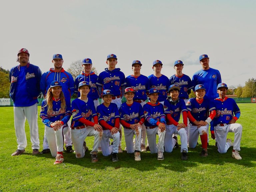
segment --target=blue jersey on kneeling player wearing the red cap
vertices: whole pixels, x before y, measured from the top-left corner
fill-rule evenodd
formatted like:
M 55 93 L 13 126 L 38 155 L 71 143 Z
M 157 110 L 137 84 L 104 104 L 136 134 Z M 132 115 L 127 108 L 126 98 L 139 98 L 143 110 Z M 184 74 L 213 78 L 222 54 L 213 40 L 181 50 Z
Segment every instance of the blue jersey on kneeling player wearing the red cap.
M 123 103 L 119 108 L 120 119 L 130 124 L 139 123 L 144 117 L 143 109 L 140 103 L 133 102 L 131 106 Z

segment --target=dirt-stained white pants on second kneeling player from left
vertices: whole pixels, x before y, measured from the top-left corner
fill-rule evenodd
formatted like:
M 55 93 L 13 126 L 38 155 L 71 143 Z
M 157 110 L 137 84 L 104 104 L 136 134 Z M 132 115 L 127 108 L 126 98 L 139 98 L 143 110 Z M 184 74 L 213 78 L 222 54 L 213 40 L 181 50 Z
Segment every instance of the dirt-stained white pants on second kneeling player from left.
M 84 140 L 86 137 L 94 136 L 94 143 L 93 148 L 90 154 L 92 152 L 98 152 L 98 147 L 102 138 L 103 132 L 96 131 L 93 127 L 87 126 L 83 129 L 72 129 L 71 130 L 71 136 L 72 136 L 72 142 L 76 151 L 76 158 L 83 158 L 85 151 L 84 151 Z

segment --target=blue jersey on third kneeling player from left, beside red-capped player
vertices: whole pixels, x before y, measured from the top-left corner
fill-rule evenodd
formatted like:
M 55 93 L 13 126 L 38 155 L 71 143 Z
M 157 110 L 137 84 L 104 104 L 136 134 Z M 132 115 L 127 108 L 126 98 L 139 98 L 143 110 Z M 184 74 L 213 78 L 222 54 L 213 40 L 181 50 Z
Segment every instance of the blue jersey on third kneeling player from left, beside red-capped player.
M 107 124 L 115 127 L 115 119 L 120 118 L 117 105 L 115 103 L 110 103 L 108 107 L 104 103 L 97 107 L 98 120 L 104 120 Z M 103 127 L 103 129 L 106 129 Z

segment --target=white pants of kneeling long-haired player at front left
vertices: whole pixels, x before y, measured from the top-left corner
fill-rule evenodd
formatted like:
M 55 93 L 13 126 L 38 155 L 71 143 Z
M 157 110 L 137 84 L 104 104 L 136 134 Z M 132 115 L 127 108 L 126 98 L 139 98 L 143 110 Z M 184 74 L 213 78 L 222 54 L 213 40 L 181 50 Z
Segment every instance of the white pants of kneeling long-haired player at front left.
M 54 131 L 52 127 L 48 127 L 45 125 L 45 133 L 48 139 L 50 151 L 53 157 L 57 156 L 57 152 L 64 151 L 64 135 L 68 131 L 68 125 L 64 124 L 58 129 Z

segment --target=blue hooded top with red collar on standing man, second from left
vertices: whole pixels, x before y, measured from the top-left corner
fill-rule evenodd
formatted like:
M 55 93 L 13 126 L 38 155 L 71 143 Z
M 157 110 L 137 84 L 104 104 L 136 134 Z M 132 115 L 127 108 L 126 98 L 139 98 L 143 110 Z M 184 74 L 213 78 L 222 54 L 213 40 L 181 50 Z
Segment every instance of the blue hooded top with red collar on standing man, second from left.
M 43 73 L 40 83 L 40 89 L 44 95 L 46 95 L 47 90 L 50 88 L 52 81 L 59 81 L 62 86 L 62 92 L 64 93 L 66 102 L 70 103 L 71 96 L 74 93 L 74 79 L 72 75 L 65 71 L 63 68 L 60 72 L 54 71 L 51 68 L 49 71 Z

